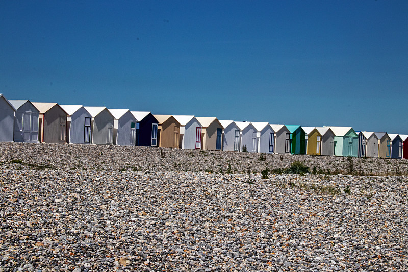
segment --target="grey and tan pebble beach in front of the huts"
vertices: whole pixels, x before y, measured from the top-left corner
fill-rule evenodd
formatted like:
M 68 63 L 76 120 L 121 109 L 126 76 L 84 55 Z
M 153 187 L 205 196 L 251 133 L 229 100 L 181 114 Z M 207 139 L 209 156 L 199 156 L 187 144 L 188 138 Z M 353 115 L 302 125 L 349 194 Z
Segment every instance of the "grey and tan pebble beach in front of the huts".
M 264 167 L 294 160 L 331 172 L 350 162 L 68 144 L 0 151 L 2 271 L 408 270 L 408 178 L 395 175 L 404 160 L 353 159 L 378 176 L 262 179 Z

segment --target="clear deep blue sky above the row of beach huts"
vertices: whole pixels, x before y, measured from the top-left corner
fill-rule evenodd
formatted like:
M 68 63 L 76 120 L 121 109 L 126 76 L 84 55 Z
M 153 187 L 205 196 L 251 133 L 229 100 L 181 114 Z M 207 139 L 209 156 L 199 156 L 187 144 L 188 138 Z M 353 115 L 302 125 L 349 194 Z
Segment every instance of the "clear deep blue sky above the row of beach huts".
M 408 134 L 408 1 L 11 1 L 9 99 Z

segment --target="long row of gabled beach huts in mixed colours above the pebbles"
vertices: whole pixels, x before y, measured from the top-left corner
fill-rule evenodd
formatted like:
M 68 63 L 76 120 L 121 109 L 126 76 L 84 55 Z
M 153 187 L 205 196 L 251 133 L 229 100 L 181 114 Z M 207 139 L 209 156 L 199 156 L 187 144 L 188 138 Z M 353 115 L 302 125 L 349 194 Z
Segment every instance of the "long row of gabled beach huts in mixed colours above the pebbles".
M 35 103 L 3 94 L 0 141 L 408 159 L 408 135 Z

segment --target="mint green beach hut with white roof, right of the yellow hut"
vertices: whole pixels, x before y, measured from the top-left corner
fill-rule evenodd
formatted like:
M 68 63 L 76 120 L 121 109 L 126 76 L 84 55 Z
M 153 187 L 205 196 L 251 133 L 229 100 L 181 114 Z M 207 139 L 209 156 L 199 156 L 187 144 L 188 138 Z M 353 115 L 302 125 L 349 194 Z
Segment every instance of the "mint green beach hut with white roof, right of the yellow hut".
M 328 127 L 335 134 L 335 156 L 357 157 L 359 151 L 359 135 L 352 127 Z

